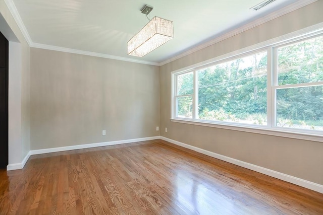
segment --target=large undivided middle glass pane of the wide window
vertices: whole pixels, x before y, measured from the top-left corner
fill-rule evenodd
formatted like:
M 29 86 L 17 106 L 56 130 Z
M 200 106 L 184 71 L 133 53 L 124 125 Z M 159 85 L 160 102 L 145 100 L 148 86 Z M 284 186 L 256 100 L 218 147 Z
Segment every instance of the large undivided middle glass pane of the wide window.
M 267 124 L 266 52 L 197 72 L 199 119 Z

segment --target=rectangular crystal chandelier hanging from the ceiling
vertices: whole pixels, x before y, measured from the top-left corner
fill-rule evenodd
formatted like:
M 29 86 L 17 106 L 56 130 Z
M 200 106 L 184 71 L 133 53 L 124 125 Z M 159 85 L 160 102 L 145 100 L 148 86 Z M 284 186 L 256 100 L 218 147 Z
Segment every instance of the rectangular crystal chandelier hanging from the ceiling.
M 141 13 L 147 16 L 151 10 L 145 5 Z M 128 55 L 142 57 L 173 38 L 173 21 L 154 17 L 128 41 Z

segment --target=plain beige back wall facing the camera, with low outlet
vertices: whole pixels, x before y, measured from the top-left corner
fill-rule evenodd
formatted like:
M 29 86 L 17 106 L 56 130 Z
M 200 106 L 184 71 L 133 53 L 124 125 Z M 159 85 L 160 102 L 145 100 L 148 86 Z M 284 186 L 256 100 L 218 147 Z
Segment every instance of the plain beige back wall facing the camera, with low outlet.
M 31 48 L 30 79 L 32 150 L 159 136 L 158 66 Z

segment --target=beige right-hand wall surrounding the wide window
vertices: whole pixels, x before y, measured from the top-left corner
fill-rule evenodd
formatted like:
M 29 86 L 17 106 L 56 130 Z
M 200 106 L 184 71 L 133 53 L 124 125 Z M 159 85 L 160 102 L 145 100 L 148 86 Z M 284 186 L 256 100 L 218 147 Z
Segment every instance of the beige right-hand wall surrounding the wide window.
M 323 184 L 323 144 L 170 121 L 171 71 L 323 22 L 318 1 L 160 67 L 160 135 Z M 168 127 L 168 132 L 165 132 Z

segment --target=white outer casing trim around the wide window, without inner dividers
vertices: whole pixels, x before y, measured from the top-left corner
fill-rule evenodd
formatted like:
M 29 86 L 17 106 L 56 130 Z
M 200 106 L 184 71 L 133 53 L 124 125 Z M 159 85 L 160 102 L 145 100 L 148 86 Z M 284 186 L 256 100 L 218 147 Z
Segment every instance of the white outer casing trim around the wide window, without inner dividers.
M 289 137 L 295 139 L 304 139 L 304 140 L 311 140 L 317 142 L 323 142 L 323 132 L 321 130 L 301 130 L 301 129 L 290 129 L 290 128 L 283 128 L 283 127 L 274 127 L 274 126 L 266 126 L 266 125 L 253 125 L 253 124 L 243 124 L 243 123 L 235 123 L 235 122 L 220 122 L 220 121 L 208 121 L 208 120 L 201 120 L 201 119 L 185 119 L 185 118 L 178 118 L 175 117 L 175 96 L 174 96 L 174 89 L 175 89 L 175 74 L 179 72 L 186 72 L 198 69 L 199 67 L 204 67 L 207 65 L 213 65 L 217 61 L 224 60 L 230 57 L 234 57 L 236 55 L 243 55 L 245 53 L 252 53 L 255 50 L 260 51 L 260 49 L 267 48 L 269 46 L 279 45 L 283 42 L 292 39 L 301 39 L 307 36 L 313 36 L 323 33 L 323 23 L 318 23 L 276 38 L 272 38 L 267 41 L 263 41 L 261 43 L 257 43 L 239 50 L 235 50 L 233 52 L 229 52 L 217 57 L 213 57 L 211 59 L 198 62 L 184 68 L 179 68 L 171 72 L 171 122 L 176 123 L 185 123 L 185 124 L 192 124 L 192 125 L 199 125 L 199 126 L 206 126 L 206 127 L 216 127 L 222 129 L 230 129 L 236 131 L 244 131 L 244 132 L 251 132 L 251 133 L 259 133 L 259 134 L 266 134 L 266 135 L 273 135 L 273 136 L 282 136 L 282 137 Z

